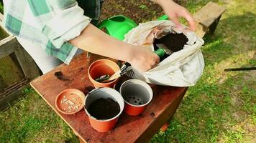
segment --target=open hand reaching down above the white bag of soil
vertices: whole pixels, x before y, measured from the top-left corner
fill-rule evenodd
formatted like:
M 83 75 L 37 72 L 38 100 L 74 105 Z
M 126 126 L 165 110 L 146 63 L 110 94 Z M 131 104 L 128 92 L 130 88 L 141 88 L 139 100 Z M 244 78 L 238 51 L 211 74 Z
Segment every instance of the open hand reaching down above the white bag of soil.
M 172 20 L 173 23 L 176 24 L 178 29 L 182 29 L 178 18 L 184 17 L 188 21 L 189 29 L 191 31 L 196 30 L 195 19 L 193 19 L 193 16 L 183 6 L 180 6 L 171 0 L 155 0 L 155 3 L 159 4 L 163 8 L 165 14 L 167 14 L 170 20 Z

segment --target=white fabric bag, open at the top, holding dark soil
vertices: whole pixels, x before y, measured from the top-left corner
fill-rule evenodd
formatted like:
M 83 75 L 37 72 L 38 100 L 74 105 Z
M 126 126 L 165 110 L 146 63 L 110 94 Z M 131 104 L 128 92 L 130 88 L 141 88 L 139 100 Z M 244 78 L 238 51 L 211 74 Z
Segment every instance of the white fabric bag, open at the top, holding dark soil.
M 204 71 L 204 57 L 201 46 L 204 40 L 191 31 L 179 31 L 171 21 L 149 21 L 139 24 L 124 37 L 124 41 L 135 46 L 145 46 L 154 51 L 153 41 L 170 32 L 181 33 L 188 38 L 182 50 L 174 52 L 155 68 L 144 73 L 134 70 L 134 79 L 147 83 L 174 87 L 190 87 L 196 84 Z

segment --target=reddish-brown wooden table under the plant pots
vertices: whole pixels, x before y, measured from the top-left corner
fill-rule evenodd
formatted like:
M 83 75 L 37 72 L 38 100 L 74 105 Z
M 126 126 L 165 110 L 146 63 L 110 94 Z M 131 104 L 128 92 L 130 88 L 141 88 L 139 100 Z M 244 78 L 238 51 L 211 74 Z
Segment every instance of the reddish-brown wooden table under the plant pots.
M 140 116 L 131 117 L 123 113 L 116 127 L 110 132 L 96 132 L 89 124 L 86 112 L 82 109 L 74 115 L 58 112 L 55 107 L 57 95 L 68 88 L 80 89 L 85 94 L 93 89 L 88 79 L 88 65 L 94 61 L 81 54 L 67 66 L 62 64 L 56 69 L 31 82 L 31 86 L 45 99 L 45 102 L 73 129 L 82 142 L 147 142 L 160 127 L 173 117 L 187 88 L 151 85 L 154 97 Z M 62 71 L 68 80 L 55 77 Z

